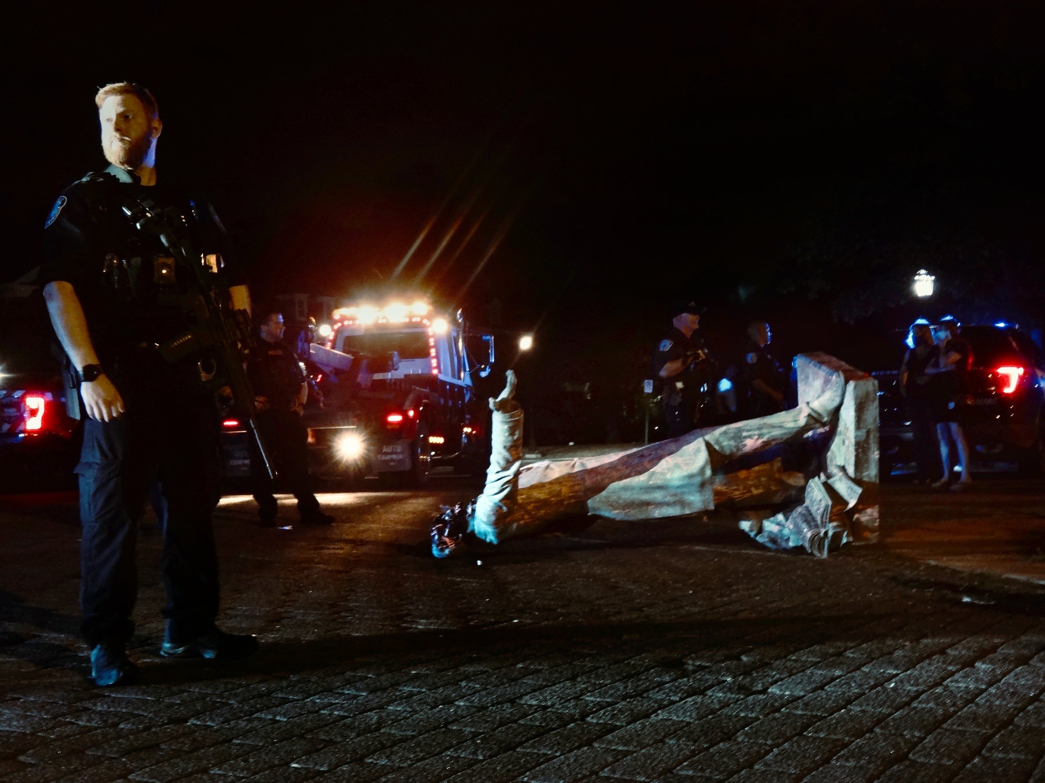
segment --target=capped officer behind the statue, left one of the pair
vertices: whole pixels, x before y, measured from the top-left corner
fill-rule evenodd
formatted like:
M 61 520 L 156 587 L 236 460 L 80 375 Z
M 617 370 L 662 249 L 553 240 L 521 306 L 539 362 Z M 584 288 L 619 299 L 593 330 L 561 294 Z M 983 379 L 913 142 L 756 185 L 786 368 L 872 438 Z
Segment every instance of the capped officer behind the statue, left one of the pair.
M 710 359 L 703 341 L 694 336 L 703 311 L 695 302 L 677 303 L 672 308 L 671 330 L 657 346 L 656 372 L 664 384 L 668 437 L 684 435 L 696 426 L 700 389 L 707 382 L 702 371 Z

